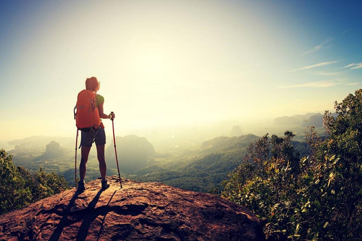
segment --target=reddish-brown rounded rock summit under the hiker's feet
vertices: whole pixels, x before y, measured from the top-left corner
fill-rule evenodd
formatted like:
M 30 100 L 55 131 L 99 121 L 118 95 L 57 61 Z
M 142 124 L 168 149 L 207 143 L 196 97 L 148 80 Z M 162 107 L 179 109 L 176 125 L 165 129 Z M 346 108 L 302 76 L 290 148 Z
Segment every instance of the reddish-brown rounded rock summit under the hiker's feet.
M 109 177 L 0 216 L 0 240 L 264 240 L 258 219 L 216 195 Z

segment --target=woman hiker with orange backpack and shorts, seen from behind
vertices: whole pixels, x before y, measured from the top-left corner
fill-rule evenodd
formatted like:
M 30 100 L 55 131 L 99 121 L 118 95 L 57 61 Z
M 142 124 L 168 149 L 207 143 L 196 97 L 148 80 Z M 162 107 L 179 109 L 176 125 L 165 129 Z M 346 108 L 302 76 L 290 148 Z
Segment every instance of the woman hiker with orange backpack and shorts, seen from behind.
M 104 97 L 97 94 L 100 88 L 100 82 L 96 77 L 87 78 L 85 81 L 85 90 L 78 94 L 77 98 L 77 113 L 75 113 L 76 125 L 81 130 L 81 159 L 79 164 L 78 191 L 85 190 L 85 172 L 87 171 L 87 161 L 92 143 L 96 143 L 97 158 L 99 162 L 99 171 L 101 172 L 101 185 L 102 189 L 109 188 L 106 179 L 106 161 L 104 157 L 106 134 L 104 132 L 104 125 L 102 119 L 113 120 L 115 115 L 111 112 L 106 115 L 103 112 Z M 79 147 L 79 148 L 80 148 Z

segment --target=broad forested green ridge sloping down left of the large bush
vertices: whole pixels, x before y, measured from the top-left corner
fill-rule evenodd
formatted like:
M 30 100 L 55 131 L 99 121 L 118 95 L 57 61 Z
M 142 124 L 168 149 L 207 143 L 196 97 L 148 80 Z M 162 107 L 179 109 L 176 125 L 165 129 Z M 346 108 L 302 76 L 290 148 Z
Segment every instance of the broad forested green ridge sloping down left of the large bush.
M 174 162 L 148 164 L 138 170 L 138 180 L 160 181 L 193 191 L 206 192 L 227 178 L 244 158 L 247 147 L 260 137 L 216 137 L 203 142 L 201 149 L 190 151 Z

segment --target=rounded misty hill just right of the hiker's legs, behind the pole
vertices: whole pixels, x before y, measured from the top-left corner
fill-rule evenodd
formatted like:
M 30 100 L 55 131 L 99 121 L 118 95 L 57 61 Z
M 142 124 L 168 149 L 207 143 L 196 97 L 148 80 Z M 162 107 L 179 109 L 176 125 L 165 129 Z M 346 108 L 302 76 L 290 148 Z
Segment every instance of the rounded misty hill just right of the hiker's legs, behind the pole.
M 127 135 L 116 137 L 117 157 L 120 171 L 125 173 L 134 172 L 146 165 L 149 156 L 155 155 L 153 145 L 144 137 Z M 105 151 L 107 167 L 117 168 L 114 143 L 107 147 Z

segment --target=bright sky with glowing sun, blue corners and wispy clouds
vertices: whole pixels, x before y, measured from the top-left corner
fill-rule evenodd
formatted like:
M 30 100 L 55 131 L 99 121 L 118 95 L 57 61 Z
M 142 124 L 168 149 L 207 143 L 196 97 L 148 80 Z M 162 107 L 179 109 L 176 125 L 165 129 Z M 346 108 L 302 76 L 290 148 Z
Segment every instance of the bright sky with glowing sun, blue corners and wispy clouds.
M 333 109 L 361 88 L 361 16 L 360 1 L 1 1 L 0 141 L 75 135 L 92 76 L 119 135 Z

